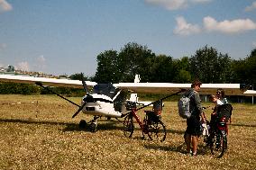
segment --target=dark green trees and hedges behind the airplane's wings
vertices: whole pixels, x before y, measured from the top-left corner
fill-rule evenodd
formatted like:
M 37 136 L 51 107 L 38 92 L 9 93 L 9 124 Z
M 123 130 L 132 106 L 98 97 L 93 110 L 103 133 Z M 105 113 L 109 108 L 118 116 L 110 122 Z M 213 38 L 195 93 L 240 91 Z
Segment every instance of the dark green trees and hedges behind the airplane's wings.
M 245 58 L 232 59 L 207 45 L 197 49 L 191 57 L 172 58 L 156 55 L 147 46 L 129 42 L 120 51 L 109 49 L 96 57 L 95 76 L 85 76 L 86 80 L 97 83 L 133 82 L 139 74 L 141 82 L 191 83 L 199 79 L 202 83 L 244 83 L 256 84 L 256 49 Z M 81 80 L 75 73 L 70 79 Z M 59 94 L 82 95 L 81 89 L 54 87 Z M 36 85 L 1 83 L 0 94 L 49 94 Z

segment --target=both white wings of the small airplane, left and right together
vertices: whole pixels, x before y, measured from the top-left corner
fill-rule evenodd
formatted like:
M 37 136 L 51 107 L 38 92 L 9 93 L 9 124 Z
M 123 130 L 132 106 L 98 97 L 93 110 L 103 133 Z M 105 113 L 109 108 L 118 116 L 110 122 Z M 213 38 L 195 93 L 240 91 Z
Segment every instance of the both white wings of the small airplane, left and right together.
M 35 84 L 35 82 L 41 82 L 43 85 L 83 88 L 82 82 L 79 80 L 46 77 L 0 75 L 0 81 L 27 84 Z M 86 83 L 88 87 L 97 85 L 96 82 L 86 81 Z M 119 83 L 114 84 L 114 86 L 120 89 L 131 90 L 135 93 L 174 94 L 181 89 L 190 88 L 191 84 Z M 201 85 L 200 94 L 215 94 L 217 88 L 223 88 L 226 95 L 255 95 L 256 91 L 246 91 L 244 87 L 245 86 L 242 84 L 203 84 Z M 246 93 L 244 93 L 245 91 Z

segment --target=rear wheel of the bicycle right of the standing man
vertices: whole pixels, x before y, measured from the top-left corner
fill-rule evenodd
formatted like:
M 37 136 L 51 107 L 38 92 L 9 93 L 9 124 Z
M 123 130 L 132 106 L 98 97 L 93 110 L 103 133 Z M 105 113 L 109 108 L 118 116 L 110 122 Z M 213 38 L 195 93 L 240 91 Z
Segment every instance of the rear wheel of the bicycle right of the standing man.
M 224 151 L 227 148 L 227 138 L 224 130 L 218 131 L 213 135 L 212 142 L 210 144 L 211 153 L 214 157 L 223 157 Z

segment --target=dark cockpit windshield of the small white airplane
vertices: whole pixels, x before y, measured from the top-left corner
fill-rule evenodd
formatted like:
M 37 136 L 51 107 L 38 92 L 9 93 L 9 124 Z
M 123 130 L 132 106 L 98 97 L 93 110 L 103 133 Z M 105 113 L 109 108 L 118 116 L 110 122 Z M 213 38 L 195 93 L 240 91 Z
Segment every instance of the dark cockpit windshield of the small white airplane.
M 93 94 L 104 94 L 110 98 L 114 97 L 115 87 L 112 84 L 97 84 L 93 88 Z

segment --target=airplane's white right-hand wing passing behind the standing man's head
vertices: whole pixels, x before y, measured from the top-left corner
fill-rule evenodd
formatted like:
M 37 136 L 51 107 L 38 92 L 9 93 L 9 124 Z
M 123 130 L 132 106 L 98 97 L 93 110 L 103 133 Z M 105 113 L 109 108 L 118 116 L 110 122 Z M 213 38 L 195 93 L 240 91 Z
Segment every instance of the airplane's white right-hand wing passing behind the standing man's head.
M 191 84 L 172 84 L 172 83 L 119 83 L 114 86 L 120 89 L 131 90 L 134 93 L 152 94 L 173 94 L 181 89 L 188 89 Z M 202 84 L 200 94 L 215 94 L 216 89 L 222 88 L 226 95 L 245 95 L 244 85 L 241 84 Z M 246 94 L 250 96 L 251 94 Z

